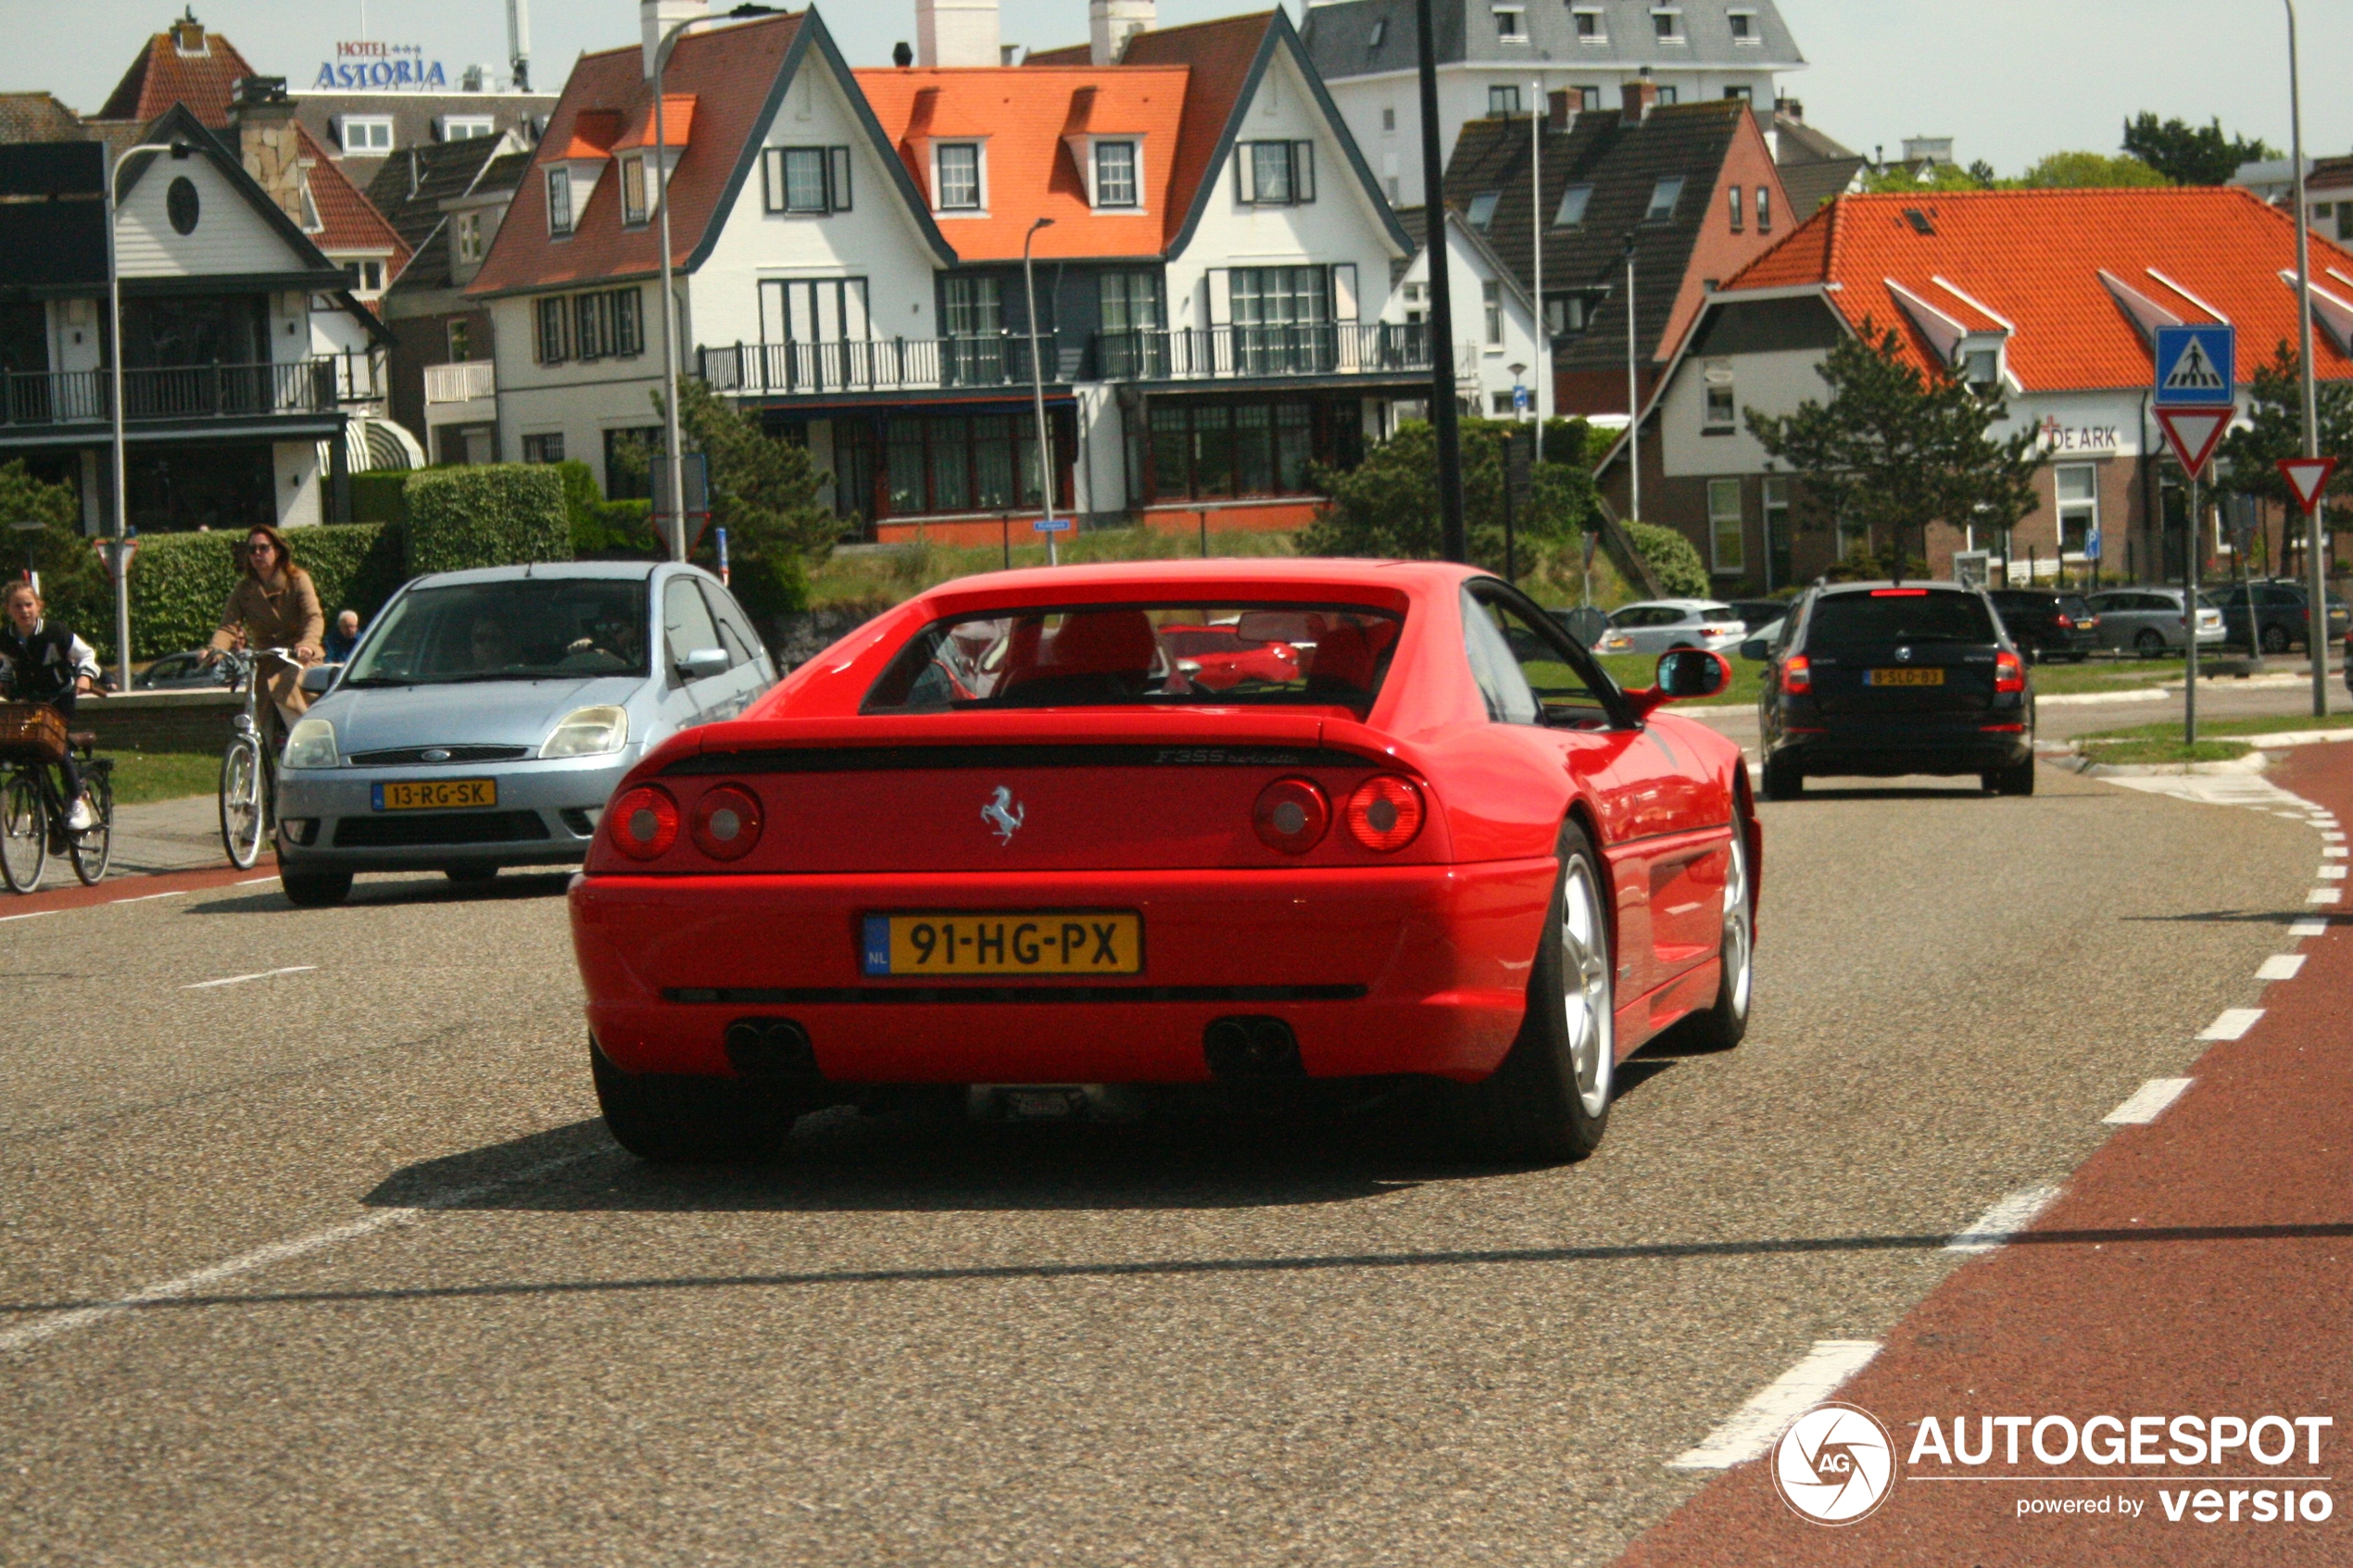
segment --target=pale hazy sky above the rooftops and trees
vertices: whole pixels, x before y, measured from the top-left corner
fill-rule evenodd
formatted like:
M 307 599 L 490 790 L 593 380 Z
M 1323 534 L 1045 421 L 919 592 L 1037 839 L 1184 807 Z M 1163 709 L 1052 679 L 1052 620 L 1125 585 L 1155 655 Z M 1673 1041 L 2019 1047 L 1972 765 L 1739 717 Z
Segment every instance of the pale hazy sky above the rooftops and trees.
M 0 0 L 9 49 L 0 89 L 49 89 L 94 110 L 139 45 L 184 0 Z M 1160 21 L 1207 21 L 1252 0 L 1162 0 Z M 1299 0 L 1289 0 L 1294 16 Z M 2280 0 L 1779 0 L 1809 66 L 1781 80 L 1807 120 L 1847 146 L 1894 155 L 1906 136 L 1953 136 L 1955 158 L 2017 174 L 2045 153 L 2113 153 L 2129 115 L 2205 122 L 2287 146 L 2287 24 Z M 725 9 L 725 0 L 715 9 Z M 826 9 L 854 66 L 887 66 L 915 35 L 913 0 Z M 195 14 L 299 92 L 341 38 L 424 45 L 452 80 L 506 56 L 506 0 L 200 0 Z M 365 14 L 365 31 L 362 31 Z M 2353 5 L 2304 0 L 2304 148 L 2353 153 Z M 584 49 L 638 38 L 633 0 L 539 0 L 534 80 L 558 87 Z M 1085 0 L 1005 0 L 1005 42 L 1085 42 Z

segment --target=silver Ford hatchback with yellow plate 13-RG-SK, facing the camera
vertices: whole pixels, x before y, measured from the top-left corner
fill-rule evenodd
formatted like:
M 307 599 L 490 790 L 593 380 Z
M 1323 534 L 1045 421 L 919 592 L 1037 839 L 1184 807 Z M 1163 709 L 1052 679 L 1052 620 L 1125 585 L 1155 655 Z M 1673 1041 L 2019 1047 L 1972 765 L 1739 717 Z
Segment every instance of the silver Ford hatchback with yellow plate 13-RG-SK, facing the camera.
M 278 769 L 278 879 L 336 903 L 353 872 L 579 860 L 614 780 L 776 682 L 708 571 L 647 562 L 421 576 L 393 595 Z

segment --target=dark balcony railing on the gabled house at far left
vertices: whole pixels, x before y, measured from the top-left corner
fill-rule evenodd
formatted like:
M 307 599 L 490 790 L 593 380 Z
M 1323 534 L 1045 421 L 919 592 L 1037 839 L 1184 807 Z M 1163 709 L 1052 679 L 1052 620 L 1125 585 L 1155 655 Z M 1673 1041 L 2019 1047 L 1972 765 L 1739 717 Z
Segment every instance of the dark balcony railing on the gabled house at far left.
M 329 414 L 374 397 L 367 360 L 346 355 L 289 364 L 176 364 L 122 371 L 125 423 L 158 418 L 254 418 Z M 113 418 L 108 371 L 0 371 L 0 428 L 82 425 Z

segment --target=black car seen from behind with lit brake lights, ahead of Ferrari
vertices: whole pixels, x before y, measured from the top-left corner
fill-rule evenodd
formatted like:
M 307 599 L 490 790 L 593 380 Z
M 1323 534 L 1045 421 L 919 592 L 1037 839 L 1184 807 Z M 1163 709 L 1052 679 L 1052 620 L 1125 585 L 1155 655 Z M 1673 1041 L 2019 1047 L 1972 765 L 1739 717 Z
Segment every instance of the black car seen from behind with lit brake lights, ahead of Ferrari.
M 1772 649 L 1758 726 L 1772 799 L 1821 773 L 1977 773 L 2035 792 L 2026 656 L 1977 588 L 1814 588 Z

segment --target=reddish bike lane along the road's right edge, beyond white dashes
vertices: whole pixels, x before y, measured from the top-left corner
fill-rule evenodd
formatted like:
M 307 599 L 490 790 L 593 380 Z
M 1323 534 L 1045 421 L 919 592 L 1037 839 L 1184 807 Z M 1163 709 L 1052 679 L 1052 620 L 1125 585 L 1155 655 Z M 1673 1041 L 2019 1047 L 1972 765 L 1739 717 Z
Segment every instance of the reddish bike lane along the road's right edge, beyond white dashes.
M 2353 820 L 2353 745 L 2299 748 L 2271 778 Z M 2322 917 L 2320 936 L 2287 929 Z M 1800 1516 L 1767 1446 L 1621 1563 L 2353 1563 L 2353 910 L 2282 912 L 2275 952 L 2304 964 L 2266 987 L 2252 1030 L 2214 1044 L 2155 1121 L 2118 1126 L 2028 1229 L 1948 1276 L 1835 1392 L 1894 1439 L 1875 1512 Z M 2087 1432 L 2101 1415 L 2115 1425 Z M 1793 1432 L 1805 1465 L 1807 1425 Z M 1939 1458 L 1955 1441 L 1986 1458 Z M 1812 1458 L 1835 1476 L 1847 1460 L 1831 1448 Z

